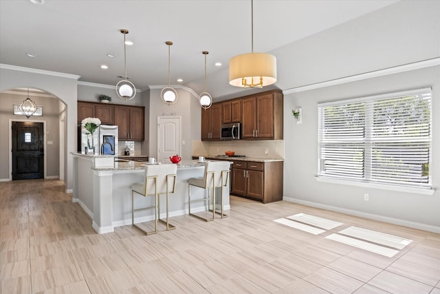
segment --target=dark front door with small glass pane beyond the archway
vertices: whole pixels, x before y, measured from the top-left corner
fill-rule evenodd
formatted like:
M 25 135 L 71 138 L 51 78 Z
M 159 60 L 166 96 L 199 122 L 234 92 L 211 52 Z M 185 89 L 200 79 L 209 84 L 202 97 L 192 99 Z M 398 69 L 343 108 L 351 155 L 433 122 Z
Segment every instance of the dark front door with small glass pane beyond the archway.
M 43 123 L 12 122 L 12 180 L 44 178 Z

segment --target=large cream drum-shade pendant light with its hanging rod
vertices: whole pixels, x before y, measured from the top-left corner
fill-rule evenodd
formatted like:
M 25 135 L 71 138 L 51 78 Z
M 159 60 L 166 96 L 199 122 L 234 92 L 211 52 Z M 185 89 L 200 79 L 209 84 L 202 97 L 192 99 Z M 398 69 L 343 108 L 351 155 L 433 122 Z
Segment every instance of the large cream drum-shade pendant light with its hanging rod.
M 232 57 L 229 61 L 229 83 L 235 87 L 264 87 L 276 82 L 276 57 L 254 53 L 254 1 L 252 10 L 252 52 Z

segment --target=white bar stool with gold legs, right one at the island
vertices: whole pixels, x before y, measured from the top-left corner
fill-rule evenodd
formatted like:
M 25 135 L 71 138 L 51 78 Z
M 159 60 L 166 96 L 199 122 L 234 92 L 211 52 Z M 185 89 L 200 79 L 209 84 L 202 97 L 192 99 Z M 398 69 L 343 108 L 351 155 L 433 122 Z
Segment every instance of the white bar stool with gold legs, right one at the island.
M 188 179 L 188 213 L 190 216 L 195 216 L 201 220 L 206 220 L 209 222 L 214 220 L 215 213 L 215 188 L 221 187 L 221 218 L 227 218 L 223 214 L 223 188 L 228 186 L 229 181 L 229 167 L 230 162 L 228 161 L 214 161 L 206 162 L 205 172 L 203 178 L 190 178 Z M 199 187 L 202 189 L 208 189 L 208 198 L 204 197 L 201 199 L 191 200 L 191 186 Z M 210 209 L 210 189 L 212 188 L 212 210 Z M 191 203 L 192 202 L 208 202 L 208 211 L 212 211 L 212 218 L 203 218 L 202 216 L 197 216 L 191 213 Z

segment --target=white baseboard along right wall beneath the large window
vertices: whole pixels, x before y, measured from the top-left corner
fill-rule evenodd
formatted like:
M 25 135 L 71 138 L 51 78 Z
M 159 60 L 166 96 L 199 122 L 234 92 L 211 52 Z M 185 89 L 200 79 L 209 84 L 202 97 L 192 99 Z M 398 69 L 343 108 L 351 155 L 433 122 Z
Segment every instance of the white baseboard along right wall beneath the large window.
M 345 213 L 345 214 L 349 214 L 351 216 L 359 216 L 360 218 L 368 218 L 370 220 L 378 220 L 380 222 L 388 222 L 390 224 L 398 224 L 399 226 L 410 227 L 412 229 L 419 229 L 419 230 L 423 230 L 423 231 L 430 231 L 433 233 L 440 233 L 440 227 L 432 226 L 430 224 L 421 224 L 420 222 L 410 222 L 408 220 L 401 220 L 399 218 L 388 218 L 388 216 L 379 216 L 379 215 L 373 214 L 373 213 L 365 213 L 362 211 L 356 211 L 356 210 L 352 210 L 352 209 L 343 209 L 340 207 L 333 207 L 333 206 L 327 205 L 327 204 L 321 204 L 321 203 L 317 203 L 317 202 L 311 202 L 311 201 L 306 201 L 306 200 L 301 200 L 301 199 L 291 198 L 291 197 L 283 197 L 283 200 L 288 201 L 288 202 L 294 202 L 294 203 L 298 203 L 298 204 L 307 205 L 309 207 L 316 207 L 316 208 L 320 208 L 320 209 L 326 209 L 329 211 L 336 211 L 336 212 L 340 212 L 340 213 Z

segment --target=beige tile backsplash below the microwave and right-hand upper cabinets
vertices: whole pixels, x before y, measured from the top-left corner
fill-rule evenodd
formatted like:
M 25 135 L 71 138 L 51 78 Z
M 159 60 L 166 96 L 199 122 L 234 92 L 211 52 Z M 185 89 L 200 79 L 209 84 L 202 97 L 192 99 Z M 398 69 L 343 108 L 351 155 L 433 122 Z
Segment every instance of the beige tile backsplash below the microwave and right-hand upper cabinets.
M 225 154 L 225 151 L 228 150 L 247 157 L 284 158 L 284 140 L 234 140 L 214 142 L 192 140 L 192 156 L 214 156 L 217 154 Z

